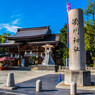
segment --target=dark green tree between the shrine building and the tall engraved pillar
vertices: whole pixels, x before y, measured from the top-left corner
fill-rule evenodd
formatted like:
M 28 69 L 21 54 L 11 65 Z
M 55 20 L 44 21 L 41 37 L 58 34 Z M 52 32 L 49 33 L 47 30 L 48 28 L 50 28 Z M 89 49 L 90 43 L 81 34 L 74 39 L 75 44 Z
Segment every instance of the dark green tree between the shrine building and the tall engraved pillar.
M 60 45 L 59 49 L 56 50 L 58 52 L 57 57 L 61 57 L 63 61 L 63 65 L 66 65 L 66 58 L 68 57 L 68 52 L 67 52 L 67 24 L 64 25 L 64 27 L 60 30 L 59 34 L 59 39 L 60 39 Z

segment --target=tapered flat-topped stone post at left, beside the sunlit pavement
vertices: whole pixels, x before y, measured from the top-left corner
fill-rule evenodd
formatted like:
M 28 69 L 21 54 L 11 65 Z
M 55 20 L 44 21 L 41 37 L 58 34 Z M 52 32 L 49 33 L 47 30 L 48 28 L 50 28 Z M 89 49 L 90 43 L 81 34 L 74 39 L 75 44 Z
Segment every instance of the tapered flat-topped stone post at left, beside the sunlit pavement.
M 15 87 L 14 74 L 8 73 L 6 87 Z

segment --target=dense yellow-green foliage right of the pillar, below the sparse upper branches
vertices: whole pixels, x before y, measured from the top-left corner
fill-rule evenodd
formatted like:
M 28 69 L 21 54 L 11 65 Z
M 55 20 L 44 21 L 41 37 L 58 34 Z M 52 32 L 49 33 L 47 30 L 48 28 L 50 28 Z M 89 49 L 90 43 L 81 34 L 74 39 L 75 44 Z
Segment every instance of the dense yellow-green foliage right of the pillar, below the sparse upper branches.
M 95 51 L 95 22 L 85 24 L 85 50 Z

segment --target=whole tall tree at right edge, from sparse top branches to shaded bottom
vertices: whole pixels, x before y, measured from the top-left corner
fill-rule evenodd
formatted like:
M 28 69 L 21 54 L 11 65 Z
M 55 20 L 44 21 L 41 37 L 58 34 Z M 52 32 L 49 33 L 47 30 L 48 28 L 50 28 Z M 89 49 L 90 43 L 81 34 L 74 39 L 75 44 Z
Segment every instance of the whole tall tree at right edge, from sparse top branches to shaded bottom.
M 87 7 L 84 10 L 84 14 L 87 16 L 87 21 L 85 21 L 85 50 L 89 52 L 92 62 L 95 64 L 95 1 L 88 0 Z M 88 18 L 89 16 L 89 18 Z M 89 59 L 87 57 L 87 59 Z

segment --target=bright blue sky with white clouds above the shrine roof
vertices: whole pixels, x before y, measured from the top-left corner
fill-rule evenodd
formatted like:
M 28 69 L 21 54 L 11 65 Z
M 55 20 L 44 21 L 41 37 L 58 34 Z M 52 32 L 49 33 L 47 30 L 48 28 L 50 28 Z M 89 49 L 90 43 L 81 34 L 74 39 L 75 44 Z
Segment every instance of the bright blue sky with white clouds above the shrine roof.
M 87 4 L 87 0 L 68 1 L 71 9 L 83 9 Z M 66 0 L 0 0 L 0 34 L 48 25 L 52 33 L 59 33 L 66 22 Z

